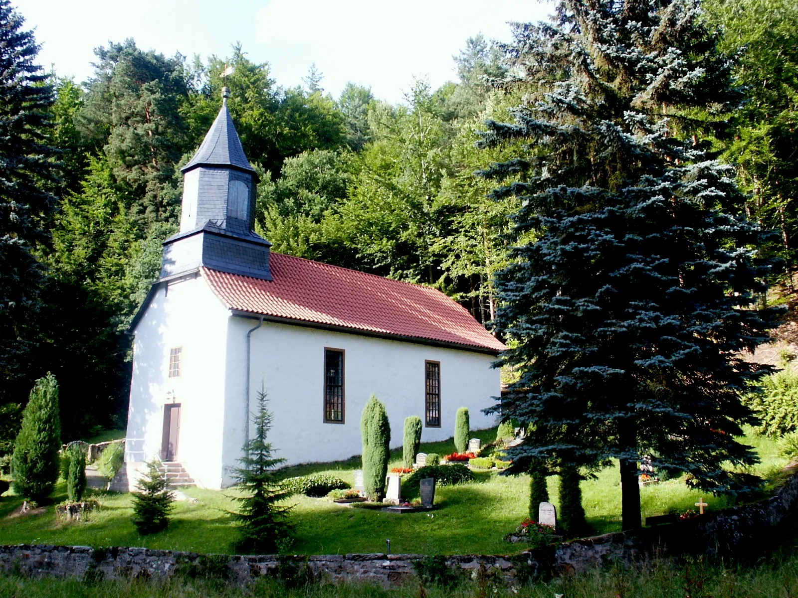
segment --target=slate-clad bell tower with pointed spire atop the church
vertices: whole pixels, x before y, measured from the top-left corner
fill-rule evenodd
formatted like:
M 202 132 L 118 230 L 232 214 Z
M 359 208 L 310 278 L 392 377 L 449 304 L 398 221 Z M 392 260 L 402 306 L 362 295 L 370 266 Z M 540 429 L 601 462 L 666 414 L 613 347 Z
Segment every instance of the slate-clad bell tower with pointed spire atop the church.
M 271 243 L 255 233 L 255 187 L 259 178 L 244 154 L 227 108 L 222 109 L 183 172 L 180 232 L 164 241 L 160 278 L 205 266 L 271 281 Z

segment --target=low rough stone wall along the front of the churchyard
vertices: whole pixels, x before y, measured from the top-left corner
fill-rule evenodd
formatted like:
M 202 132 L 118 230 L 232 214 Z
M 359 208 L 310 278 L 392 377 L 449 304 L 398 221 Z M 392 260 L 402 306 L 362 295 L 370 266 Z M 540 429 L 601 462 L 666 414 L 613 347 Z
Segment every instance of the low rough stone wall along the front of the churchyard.
M 634 532 L 608 533 L 499 557 L 445 557 L 448 567 L 466 574 L 484 566 L 508 582 L 583 572 L 613 561 L 641 561 L 655 553 L 698 553 L 710 557 L 745 555 L 760 544 L 772 545 L 781 521 L 798 502 L 793 474 L 772 498 L 751 505 L 707 513 L 687 521 Z M 41 577 L 129 579 L 172 576 L 220 576 L 246 583 L 263 575 L 310 575 L 314 579 L 365 580 L 388 586 L 415 577 L 413 566 L 425 557 L 412 554 L 346 554 L 311 557 L 231 556 L 141 548 L 92 549 L 86 546 L 0 546 L 0 570 Z

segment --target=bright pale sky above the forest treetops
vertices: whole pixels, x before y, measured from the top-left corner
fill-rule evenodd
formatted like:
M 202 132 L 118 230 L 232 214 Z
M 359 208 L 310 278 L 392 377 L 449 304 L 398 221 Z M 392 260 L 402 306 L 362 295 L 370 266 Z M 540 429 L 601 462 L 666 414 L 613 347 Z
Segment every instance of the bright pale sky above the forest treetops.
M 41 44 L 39 62 L 85 81 L 93 49 L 136 40 L 168 56 L 224 57 L 240 41 L 248 57 L 268 62 L 279 85 L 302 85 L 312 63 L 322 87 L 347 81 L 377 98 L 401 101 L 413 77 L 433 87 L 456 79 L 452 55 L 476 33 L 509 41 L 508 22 L 546 18 L 535 0 L 12 0 Z

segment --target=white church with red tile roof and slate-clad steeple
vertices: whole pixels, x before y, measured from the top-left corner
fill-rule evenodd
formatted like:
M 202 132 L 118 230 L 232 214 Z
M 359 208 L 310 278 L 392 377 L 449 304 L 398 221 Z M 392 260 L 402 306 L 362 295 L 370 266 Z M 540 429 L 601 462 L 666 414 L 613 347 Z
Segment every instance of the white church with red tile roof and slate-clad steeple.
M 424 442 L 452 436 L 458 407 L 472 429 L 493 425 L 482 409 L 500 395 L 491 364 L 504 344 L 468 310 L 426 286 L 272 253 L 255 234 L 259 179 L 227 100 L 183 173 L 180 232 L 130 327 L 128 479 L 160 458 L 229 486 L 261 388 L 269 441 L 290 464 L 359 454 L 372 393 L 392 447 L 409 415 Z

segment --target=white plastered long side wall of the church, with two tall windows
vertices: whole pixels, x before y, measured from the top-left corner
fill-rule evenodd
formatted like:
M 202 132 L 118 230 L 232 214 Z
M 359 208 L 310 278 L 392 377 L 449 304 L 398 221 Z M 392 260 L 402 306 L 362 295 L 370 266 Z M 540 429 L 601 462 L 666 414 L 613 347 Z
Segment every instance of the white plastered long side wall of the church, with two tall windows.
M 227 467 L 235 465 L 243 446 L 247 330 L 258 321 L 231 317 L 230 324 L 223 451 Z M 342 424 L 323 421 L 325 348 L 345 351 Z M 500 372 L 491 368 L 496 360 L 492 355 L 271 322 L 251 335 L 251 405 L 255 407 L 256 392 L 263 384 L 275 415 L 269 441 L 279 450 L 275 456 L 289 463 L 360 454 L 360 417 L 372 393 L 387 408 L 391 447 L 401 447 L 405 417 L 424 419 L 425 360 L 440 362 L 441 426 L 425 426 L 422 441 L 452 437 L 459 407 L 468 407 L 472 430 L 494 425 L 495 416 L 481 411 L 500 395 Z

